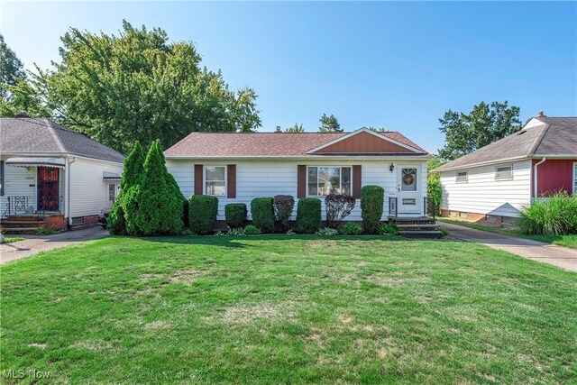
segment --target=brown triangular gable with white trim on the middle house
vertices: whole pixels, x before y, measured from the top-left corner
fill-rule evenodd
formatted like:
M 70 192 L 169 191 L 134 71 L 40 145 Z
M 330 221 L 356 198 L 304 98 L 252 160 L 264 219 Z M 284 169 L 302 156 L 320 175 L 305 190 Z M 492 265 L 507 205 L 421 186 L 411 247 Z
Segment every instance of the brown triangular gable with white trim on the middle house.
M 423 153 L 425 151 L 418 151 L 407 144 L 364 128 L 307 151 L 307 153 L 311 154 L 395 154 L 416 152 Z

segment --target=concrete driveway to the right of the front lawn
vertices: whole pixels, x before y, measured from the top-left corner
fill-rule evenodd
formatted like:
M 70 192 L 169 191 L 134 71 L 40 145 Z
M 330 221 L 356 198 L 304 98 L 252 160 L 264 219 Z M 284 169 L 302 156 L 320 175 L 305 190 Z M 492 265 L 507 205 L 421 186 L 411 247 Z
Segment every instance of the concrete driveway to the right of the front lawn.
M 460 225 L 439 223 L 451 233 L 453 238 L 481 243 L 492 249 L 517 254 L 528 260 L 545 262 L 566 270 L 577 271 L 577 250 Z

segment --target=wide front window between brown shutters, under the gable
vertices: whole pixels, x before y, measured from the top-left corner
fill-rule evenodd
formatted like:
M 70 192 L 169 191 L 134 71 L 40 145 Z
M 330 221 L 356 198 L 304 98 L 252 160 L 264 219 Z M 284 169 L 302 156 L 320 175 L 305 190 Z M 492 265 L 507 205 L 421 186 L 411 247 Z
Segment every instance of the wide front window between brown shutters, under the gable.
M 307 195 L 325 197 L 329 194 L 351 195 L 351 167 L 308 166 Z

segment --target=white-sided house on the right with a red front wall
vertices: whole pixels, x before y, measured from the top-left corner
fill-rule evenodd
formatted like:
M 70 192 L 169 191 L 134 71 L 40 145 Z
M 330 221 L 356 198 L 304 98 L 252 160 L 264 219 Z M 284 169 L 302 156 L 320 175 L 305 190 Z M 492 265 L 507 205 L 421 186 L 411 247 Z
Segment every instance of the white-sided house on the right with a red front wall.
M 441 172 L 443 216 L 510 223 L 536 197 L 577 191 L 577 117 L 540 114 L 521 131 L 434 171 Z

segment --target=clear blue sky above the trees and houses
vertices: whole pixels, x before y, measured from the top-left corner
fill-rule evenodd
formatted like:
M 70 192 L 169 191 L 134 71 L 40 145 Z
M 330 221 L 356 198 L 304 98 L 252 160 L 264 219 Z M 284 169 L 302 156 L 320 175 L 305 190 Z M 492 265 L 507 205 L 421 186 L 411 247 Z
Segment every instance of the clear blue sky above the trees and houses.
M 231 87 L 259 95 L 262 132 L 323 113 L 346 131 L 384 126 L 429 151 L 438 118 L 508 100 L 527 118 L 577 115 L 577 3 L 3 2 L 1 31 L 27 68 L 59 60 L 70 26 L 126 19 L 193 41 Z

